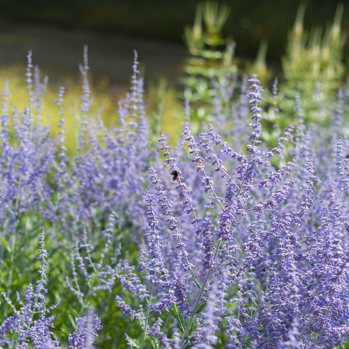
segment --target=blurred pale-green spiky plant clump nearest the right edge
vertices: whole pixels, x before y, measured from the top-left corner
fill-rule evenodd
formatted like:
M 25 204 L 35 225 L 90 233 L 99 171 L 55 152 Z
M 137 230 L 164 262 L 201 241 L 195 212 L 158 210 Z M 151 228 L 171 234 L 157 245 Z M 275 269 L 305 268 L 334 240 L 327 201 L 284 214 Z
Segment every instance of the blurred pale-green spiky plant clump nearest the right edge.
M 299 96 L 306 122 L 329 124 L 326 106 L 336 99 L 348 70 L 343 60 L 347 33 L 341 30 L 344 7 L 338 5 L 334 21 L 326 29 L 317 27 L 310 31 L 303 26 L 305 9 L 305 4 L 299 7 L 282 59 L 282 107 L 290 114 L 293 101 Z

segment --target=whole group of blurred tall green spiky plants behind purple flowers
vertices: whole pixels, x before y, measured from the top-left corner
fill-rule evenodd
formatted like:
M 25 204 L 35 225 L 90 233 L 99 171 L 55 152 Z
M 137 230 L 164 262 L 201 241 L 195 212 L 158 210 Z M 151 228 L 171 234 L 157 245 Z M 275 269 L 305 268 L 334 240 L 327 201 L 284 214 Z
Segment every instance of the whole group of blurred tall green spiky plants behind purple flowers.
M 338 6 L 332 25 L 325 30 L 313 28 L 310 33 L 303 27 L 305 8 L 305 4 L 300 5 L 295 24 L 289 32 L 286 55 L 282 57 L 282 76 L 273 92 L 273 73 L 266 64 L 267 42 L 261 42 L 255 62 L 242 65 L 241 59 L 233 57 L 232 39 L 223 38 L 221 34 L 230 9 L 217 2 L 198 4 L 193 26 L 184 29 L 190 53 L 184 67 L 190 75 L 183 80 L 184 99 L 192 106 L 192 121 L 201 125 L 213 117 L 214 112 L 208 105 L 216 94 L 217 86 L 212 86 L 214 81 L 218 86 L 227 86 L 234 79 L 234 74 L 242 76 L 246 73 L 247 76 L 257 74 L 264 86 L 262 122 L 268 130 L 264 139 L 271 147 L 275 146 L 281 134 L 279 130 L 285 129 L 290 122 L 297 125 L 296 98 L 302 101 L 301 112 L 306 123 L 331 122 L 328 106 L 337 102 L 338 89 L 345 81 L 347 69 L 343 61 L 347 33 L 341 31 L 344 7 Z M 238 86 L 240 83 L 236 81 L 235 89 Z M 226 120 L 229 120 L 236 103 L 233 93 L 224 100 L 225 106 L 220 114 L 224 111 Z

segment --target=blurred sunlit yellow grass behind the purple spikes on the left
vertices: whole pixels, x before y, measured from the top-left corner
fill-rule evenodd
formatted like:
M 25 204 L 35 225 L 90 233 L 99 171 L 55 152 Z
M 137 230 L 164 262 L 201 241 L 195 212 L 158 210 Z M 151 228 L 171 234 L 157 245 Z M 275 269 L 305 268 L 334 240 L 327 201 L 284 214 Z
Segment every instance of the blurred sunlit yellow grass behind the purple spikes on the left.
M 41 79 L 43 79 L 43 76 L 41 76 Z M 6 80 L 9 83 L 11 94 L 8 98 L 9 110 L 24 111 L 29 101 L 29 93 L 25 83 L 25 67 L 13 65 L 1 68 L 0 86 L 2 88 Z M 79 112 L 83 92 L 81 81 L 76 81 L 76 79 L 67 76 L 62 77 L 60 83 L 48 82 L 47 90 L 42 96 L 42 106 L 36 122 L 49 125 L 51 137 L 57 136 L 60 117 L 55 99 L 58 97 L 60 86 L 65 87 L 62 103 L 63 118 L 67 125 L 65 145 L 68 153 L 73 155 L 77 150 L 77 134 L 81 115 Z M 119 120 L 118 103 L 125 98 L 128 86 L 110 84 L 108 80 L 100 79 L 91 82 L 90 89 L 93 99 L 91 115 L 99 114 L 107 129 L 117 126 Z M 179 138 L 181 122 L 183 121 L 183 102 L 179 98 L 179 92 L 174 86 L 170 86 L 165 78 L 160 78 L 149 84 L 146 95 L 146 111 L 149 116 L 153 141 L 157 141 L 160 131 L 163 130 L 165 134 L 171 135 L 171 143 L 174 145 Z

